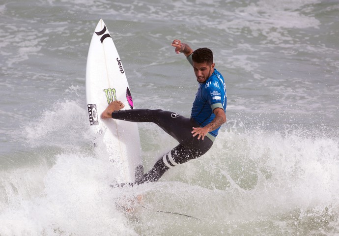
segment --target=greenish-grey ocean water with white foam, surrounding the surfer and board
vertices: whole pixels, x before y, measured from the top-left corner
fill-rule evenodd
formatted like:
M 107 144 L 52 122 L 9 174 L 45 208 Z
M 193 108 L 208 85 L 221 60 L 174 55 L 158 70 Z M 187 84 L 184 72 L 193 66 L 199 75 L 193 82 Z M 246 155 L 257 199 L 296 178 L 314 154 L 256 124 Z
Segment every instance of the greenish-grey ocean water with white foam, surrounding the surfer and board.
M 211 48 L 226 79 L 214 146 L 157 183 L 111 188 L 91 145 L 100 18 L 138 108 L 190 116 L 198 85 L 175 38 Z M 0 35 L 0 236 L 339 235 L 337 0 L 1 0 Z M 176 142 L 139 129 L 149 170 Z

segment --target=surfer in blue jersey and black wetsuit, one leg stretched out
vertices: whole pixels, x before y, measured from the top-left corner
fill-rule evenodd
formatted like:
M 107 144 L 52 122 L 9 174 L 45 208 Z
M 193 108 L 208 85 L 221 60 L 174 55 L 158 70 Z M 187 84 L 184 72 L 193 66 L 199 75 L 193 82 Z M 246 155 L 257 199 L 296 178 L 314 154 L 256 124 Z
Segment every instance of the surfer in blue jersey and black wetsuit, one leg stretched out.
M 188 44 L 177 39 L 171 45 L 177 54 L 186 56 L 199 83 L 191 118 L 163 110 L 121 110 L 124 105 L 120 101 L 110 103 L 101 114 L 103 119 L 153 122 L 179 142 L 136 184 L 158 181 L 170 168 L 205 154 L 212 147 L 220 126 L 226 122 L 226 86 L 223 76 L 214 68 L 212 51 L 208 48 L 193 51 Z

